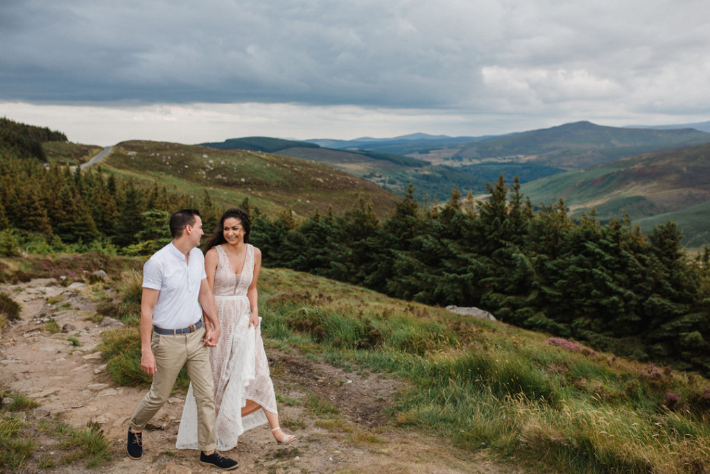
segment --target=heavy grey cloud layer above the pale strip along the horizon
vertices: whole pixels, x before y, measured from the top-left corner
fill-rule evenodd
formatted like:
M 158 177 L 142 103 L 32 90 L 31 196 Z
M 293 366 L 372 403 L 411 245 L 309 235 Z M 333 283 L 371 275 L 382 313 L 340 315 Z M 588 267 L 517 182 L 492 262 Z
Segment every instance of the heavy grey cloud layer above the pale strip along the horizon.
M 0 99 L 702 114 L 692 0 L 6 0 Z

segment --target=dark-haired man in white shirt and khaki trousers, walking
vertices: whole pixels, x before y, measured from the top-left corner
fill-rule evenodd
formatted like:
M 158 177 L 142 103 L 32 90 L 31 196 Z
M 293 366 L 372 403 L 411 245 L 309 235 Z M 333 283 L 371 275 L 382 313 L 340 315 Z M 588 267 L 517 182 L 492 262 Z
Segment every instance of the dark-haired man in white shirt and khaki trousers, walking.
M 141 370 L 153 377 L 153 384 L 131 417 L 126 452 L 131 459 L 143 456 L 141 431 L 168 400 L 178 372 L 186 365 L 197 401 L 200 463 L 231 470 L 236 460 L 215 451 L 214 389 L 207 346 L 217 345 L 222 328 L 207 284 L 204 257 L 197 249 L 204 235 L 200 213 L 194 209 L 175 212 L 170 232 L 173 242 L 143 266 Z

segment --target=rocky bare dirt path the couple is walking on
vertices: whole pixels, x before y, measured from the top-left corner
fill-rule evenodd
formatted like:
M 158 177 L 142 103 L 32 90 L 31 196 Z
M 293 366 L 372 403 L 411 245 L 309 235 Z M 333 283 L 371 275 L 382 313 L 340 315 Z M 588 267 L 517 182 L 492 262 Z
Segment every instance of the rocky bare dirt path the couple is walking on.
M 128 419 L 146 389 L 118 387 L 106 372 L 97 347 L 102 331 L 117 321 L 87 320 L 96 311 L 91 287 L 59 286 L 55 279 L 0 285 L 23 306 L 21 320 L 8 325 L 0 340 L 0 381 L 40 403 L 28 421 L 59 416 L 84 428 L 98 423 L 111 443 L 113 459 L 101 473 L 212 473 L 197 462 L 199 453 L 176 450 L 175 436 L 182 413 L 183 394 L 171 397 L 143 434 L 141 460 L 125 455 Z M 50 333 L 53 319 L 65 332 Z M 75 338 L 75 345 L 67 338 Z M 285 431 L 298 436 L 288 446 L 273 441 L 267 426 L 244 433 L 239 446 L 227 454 L 249 473 L 515 473 L 517 468 L 450 446 L 445 439 L 388 424 L 383 410 L 400 387 L 396 380 L 376 374 L 345 372 L 315 362 L 296 350 L 268 349 L 273 381 L 280 394 L 279 413 Z M 339 409 L 323 416 L 305 408 L 317 397 Z M 53 438 L 35 440 L 35 451 L 23 469 L 27 473 L 75 473 L 74 465 L 39 468 L 38 459 L 53 455 Z

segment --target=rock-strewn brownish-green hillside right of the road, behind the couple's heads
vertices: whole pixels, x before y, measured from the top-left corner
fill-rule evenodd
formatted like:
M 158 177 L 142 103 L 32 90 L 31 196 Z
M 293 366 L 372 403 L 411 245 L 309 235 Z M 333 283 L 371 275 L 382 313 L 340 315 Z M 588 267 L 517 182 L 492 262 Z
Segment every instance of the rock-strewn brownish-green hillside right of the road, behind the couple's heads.
M 293 210 L 309 215 L 351 208 L 362 194 L 376 212 L 389 215 L 396 196 L 373 183 L 330 166 L 259 151 L 217 150 L 156 141 L 125 141 L 102 162 L 123 176 L 157 181 L 168 190 L 194 193 L 204 189 L 220 207 L 249 198 L 268 212 Z

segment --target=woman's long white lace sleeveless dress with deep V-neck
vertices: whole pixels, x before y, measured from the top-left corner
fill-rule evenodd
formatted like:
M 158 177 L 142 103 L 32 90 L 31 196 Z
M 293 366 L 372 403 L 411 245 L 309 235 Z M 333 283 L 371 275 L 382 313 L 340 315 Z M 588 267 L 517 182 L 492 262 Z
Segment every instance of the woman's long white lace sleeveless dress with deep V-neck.
M 236 446 L 241 433 L 268 423 L 261 409 L 244 418 L 241 416 L 241 408 L 247 399 L 260 404 L 267 411 L 277 411 L 273 382 L 261 340 L 261 325 L 249 328 L 251 306 L 246 298 L 246 290 L 253 276 L 254 247 L 247 246 L 241 274 L 234 273 L 222 246 L 214 248 L 218 255 L 214 301 L 222 334 L 217 346 L 209 348 L 209 362 L 212 365 L 214 405 L 217 409 L 217 450 L 228 451 Z M 197 404 L 192 394 L 192 384 L 187 390 L 175 446 L 179 449 L 198 449 Z

